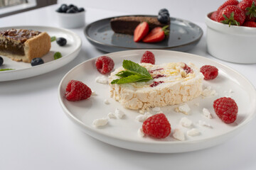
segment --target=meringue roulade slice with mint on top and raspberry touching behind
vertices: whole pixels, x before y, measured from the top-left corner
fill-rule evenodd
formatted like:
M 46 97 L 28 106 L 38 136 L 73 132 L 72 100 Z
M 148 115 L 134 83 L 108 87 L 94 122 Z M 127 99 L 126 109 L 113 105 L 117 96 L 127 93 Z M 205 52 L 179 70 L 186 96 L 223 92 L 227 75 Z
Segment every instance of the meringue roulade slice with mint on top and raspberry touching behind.
M 183 103 L 200 96 L 203 74 L 192 63 L 156 65 L 154 55 L 146 52 L 140 64 L 124 60 L 122 67 L 110 74 L 109 82 L 112 98 L 124 108 L 144 111 L 147 108 Z

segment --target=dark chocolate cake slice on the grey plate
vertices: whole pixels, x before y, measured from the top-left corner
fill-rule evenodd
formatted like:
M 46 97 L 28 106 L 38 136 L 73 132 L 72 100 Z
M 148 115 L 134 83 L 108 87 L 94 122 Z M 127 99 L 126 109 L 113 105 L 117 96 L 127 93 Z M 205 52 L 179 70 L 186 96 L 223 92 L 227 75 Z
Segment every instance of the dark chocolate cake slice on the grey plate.
M 129 35 L 134 35 L 135 28 L 146 21 L 149 23 L 149 30 L 156 27 L 170 26 L 170 21 L 168 23 L 160 23 L 157 17 L 154 16 L 121 16 L 117 18 L 112 18 L 110 20 L 110 25 L 114 33 L 124 33 Z M 170 29 L 167 28 L 168 30 Z

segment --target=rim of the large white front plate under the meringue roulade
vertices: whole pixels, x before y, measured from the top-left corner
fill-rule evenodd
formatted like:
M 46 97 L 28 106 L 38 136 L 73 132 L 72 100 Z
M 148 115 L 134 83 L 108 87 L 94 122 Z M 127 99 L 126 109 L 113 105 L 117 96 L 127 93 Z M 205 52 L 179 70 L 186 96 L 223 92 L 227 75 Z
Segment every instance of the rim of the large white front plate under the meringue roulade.
M 125 50 L 125 51 L 119 51 L 119 52 L 110 52 L 110 53 L 107 53 L 105 55 L 110 55 L 110 54 L 114 54 L 115 55 L 117 53 L 122 53 L 122 52 L 125 53 L 125 52 L 131 52 L 131 51 L 135 52 L 135 51 L 144 51 L 144 50 Z M 235 69 L 232 69 L 231 67 L 226 66 L 225 64 L 222 64 L 220 62 L 216 62 L 215 60 L 210 60 L 210 59 L 208 59 L 206 57 L 202 57 L 200 55 L 193 55 L 193 54 L 187 53 L 187 52 L 177 52 L 177 51 L 171 51 L 171 50 L 152 50 L 152 52 L 154 52 L 154 51 L 174 52 L 174 54 L 175 53 L 182 53 L 183 55 L 185 55 L 185 54 L 186 55 L 191 55 L 191 57 L 198 57 L 199 59 L 201 58 L 201 59 L 206 60 L 208 62 L 213 62 L 213 63 L 220 64 L 225 69 L 229 69 L 230 71 L 235 72 L 235 74 L 238 74 L 238 76 L 240 76 L 242 79 L 244 79 L 247 82 L 247 84 L 250 85 L 250 87 L 255 90 L 253 96 L 255 97 L 254 99 L 256 101 L 256 88 L 255 88 L 255 86 L 253 86 L 252 83 L 248 79 L 246 79 L 244 76 L 242 76 L 242 74 L 237 72 Z M 100 55 L 100 56 L 102 56 L 102 55 Z M 97 57 L 100 57 L 100 56 L 97 56 Z M 87 60 L 85 62 L 91 62 L 92 60 L 95 60 L 97 57 L 94 57 L 94 58 L 92 58 L 90 60 Z M 248 125 L 248 123 L 250 123 L 251 120 L 253 118 L 255 118 L 255 116 L 256 116 L 256 112 L 255 112 L 256 111 L 256 106 L 253 106 L 254 113 L 251 113 L 246 118 L 245 121 L 243 121 L 240 125 L 238 125 L 235 128 L 233 128 L 233 130 L 230 130 L 229 132 L 226 132 L 225 134 L 216 135 L 216 136 L 213 136 L 213 137 L 208 137 L 208 138 L 200 139 L 200 140 L 193 140 L 193 141 L 185 140 L 185 141 L 146 141 L 146 142 L 143 142 L 143 141 L 131 140 L 129 138 L 124 138 L 124 137 L 117 137 L 117 136 L 114 136 L 114 135 L 106 135 L 104 132 L 97 131 L 96 128 L 91 128 L 89 125 L 85 125 L 85 123 L 82 123 L 82 121 L 80 121 L 78 118 L 75 118 L 75 116 L 72 113 L 70 113 L 70 111 L 68 111 L 68 108 L 65 107 L 65 104 L 62 101 L 64 97 L 63 97 L 63 94 L 60 94 L 60 91 L 61 91 L 61 86 L 63 84 L 63 81 L 65 80 L 65 77 L 67 77 L 68 74 L 70 74 L 70 72 L 73 72 L 78 67 L 81 67 L 81 65 L 85 64 L 85 62 L 82 62 L 82 63 L 78 64 L 77 66 L 73 67 L 73 69 L 70 69 L 70 71 L 65 74 L 63 79 L 61 79 L 60 84 L 58 86 L 58 101 L 60 102 L 60 106 L 63 109 L 64 113 L 68 116 L 68 118 L 70 118 L 73 121 L 73 123 L 75 123 L 76 125 L 80 126 L 81 128 L 84 128 L 85 130 L 88 130 L 90 132 L 94 132 L 97 135 L 103 135 L 104 137 L 112 138 L 114 140 L 119 140 L 119 141 L 122 141 L 122 142 L 132 142 L 134 144 L 139 144 L 139 145 L 142 145 L 142 144 L 143 145 L 166 145 L 166 146 L 168 146 L 168 145 L 191 145 L 191 144 L 195 144 L 195 143 L 199 144 L 199 143 L 202 143 L 202 142 L 207 142 L 209 140 L 216 139 L 216 138 L 217 139 L 218 138 L 221 139 L 225 135 L 231 135 L 234 132 L 237 132 L 238 130 L 241 130 L 242 128 L 244 128 L 245 125 Z M 83 131 L 85 131 L 85 130 L 83 130 Z M 90 135 L 88 132 L 85 132 L 85 133 L 87 135 Z M 94 135 L 90 135 L 90 136 L 91 137 L 95 137 Z M 98 137 L 95 137 L 95 138 L 97 140 L 100 140 Z M 108 143 L 108 142 L 103 141 L 103 140 L 100 140 L 100 141 Z M 119 147 L 117 145 L 114 145 L 114 146 Z M 211 145 L 211 146 L 214 146 L 214 145 Z M 123 147 L 123 148 L 126 148 L 126 147 Z M 203 148 L 207 148 L 207 147 L 203 147 Z M 126 148 L 126 149 L 129 149 L 129 148 Z M 137 150 L 137 149 L 132 149 L 132 150 Z M 198 150 L 198 149 L 196 149 L 196 150 Z M 142 150 L 137 150 L 137 151 L 142 151 Z M 193 150 L 191 150 L 191 151 L 193 151 Z M 151 152 L 151 151 L 142 151 L 142 152 Z M 174 152 L 168 152 L 167 151 L 167 152 L 154 152 L 154 153 L 174 153 Z M 177 153 L 177 152 L 175 152 L 175 153 Z

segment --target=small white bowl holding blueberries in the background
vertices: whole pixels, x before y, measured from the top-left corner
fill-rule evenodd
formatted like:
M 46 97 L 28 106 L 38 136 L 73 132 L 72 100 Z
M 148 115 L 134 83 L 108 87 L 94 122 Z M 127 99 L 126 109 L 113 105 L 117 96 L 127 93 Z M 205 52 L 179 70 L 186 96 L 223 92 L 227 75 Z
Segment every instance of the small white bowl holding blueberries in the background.
M 80 28 L 85 26 L 85 11 L 78 13 L 58 13 L 58 23 L 63 28 Z

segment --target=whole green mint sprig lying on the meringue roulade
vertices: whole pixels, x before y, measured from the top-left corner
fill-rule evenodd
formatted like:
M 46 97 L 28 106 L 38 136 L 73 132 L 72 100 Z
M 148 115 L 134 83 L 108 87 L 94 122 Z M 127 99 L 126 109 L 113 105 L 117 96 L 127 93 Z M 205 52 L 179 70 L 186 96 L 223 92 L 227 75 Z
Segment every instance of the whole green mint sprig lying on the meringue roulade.
M 127 84 L 132 82 L 149 81 L 153 79 L 146 68 L 130 60 L 124 60 L 122 66 L 124 71 L 118 72 L 116 75 L 120 79 L 114 79 L 111 84 Z

